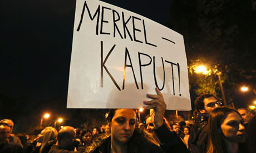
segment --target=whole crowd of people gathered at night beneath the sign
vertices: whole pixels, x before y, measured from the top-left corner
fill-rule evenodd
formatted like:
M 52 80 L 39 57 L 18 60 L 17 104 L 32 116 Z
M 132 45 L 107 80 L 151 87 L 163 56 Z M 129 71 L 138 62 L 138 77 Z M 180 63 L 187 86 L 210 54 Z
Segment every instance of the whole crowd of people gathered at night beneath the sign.
M 110 109 L 106 124 L 92 129 L 45 127 L 37 136 L 14 134 L 13 121 L 0 121 L 0 153 L 105 153 L 105 152 L 256 152 L 256 117 L 245 108 L 222 106 L 214 95 L 194 101 L 194 122 L 169 123 L 160 90 L 144 101 L 150 110 L 146 123 L 136 109 Z

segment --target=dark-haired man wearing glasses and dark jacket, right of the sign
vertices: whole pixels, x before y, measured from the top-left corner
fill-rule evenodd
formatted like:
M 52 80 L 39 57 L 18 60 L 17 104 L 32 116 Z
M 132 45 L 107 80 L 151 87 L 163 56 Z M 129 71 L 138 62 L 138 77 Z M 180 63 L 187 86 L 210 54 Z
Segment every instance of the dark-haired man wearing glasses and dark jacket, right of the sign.
M 193 153 L 206 152 L 208 139 L 208 116 L 211 111 L 221 105 L 212 94 L 202 94 L 195 100 L 195 124 L 191 128 L 189 147 Z

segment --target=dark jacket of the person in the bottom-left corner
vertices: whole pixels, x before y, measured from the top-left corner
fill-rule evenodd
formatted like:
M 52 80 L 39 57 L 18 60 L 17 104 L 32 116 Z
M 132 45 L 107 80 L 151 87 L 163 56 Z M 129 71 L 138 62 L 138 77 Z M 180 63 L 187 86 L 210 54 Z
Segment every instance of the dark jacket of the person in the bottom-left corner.
M 22 147 L 13 142 L 6 141 L 0 145 L 0 153 L 22 153 Z

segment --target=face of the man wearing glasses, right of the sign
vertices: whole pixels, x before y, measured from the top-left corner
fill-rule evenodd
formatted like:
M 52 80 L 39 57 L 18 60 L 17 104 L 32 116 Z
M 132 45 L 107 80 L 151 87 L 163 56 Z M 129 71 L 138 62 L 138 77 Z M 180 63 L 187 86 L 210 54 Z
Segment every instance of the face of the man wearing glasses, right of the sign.
M 214 98 L 213 96 L 204 99 L 204 110 L 200 110 L 200 113 L 207 113 L 209 114 L 215 108 L 220 106 L 219 100 Z

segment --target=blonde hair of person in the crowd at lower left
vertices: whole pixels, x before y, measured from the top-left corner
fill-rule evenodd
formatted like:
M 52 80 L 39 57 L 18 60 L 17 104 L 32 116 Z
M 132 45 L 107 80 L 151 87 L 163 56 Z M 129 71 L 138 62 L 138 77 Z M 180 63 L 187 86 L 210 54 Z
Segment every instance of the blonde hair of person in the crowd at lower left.
M 39 151 L 40 153 L 43 151 L 43 149 L 45 148 L 45 146 L 48 144 L 49 141 L 57 140 L 57 135 L 58 135 L 57 130 L 51 126 L 45 127 L 45 129 L 43 129 L 41 133 L 43 134 L 43 137 L 42 137 L 43 140 L 42 140 L 42 145 Z

